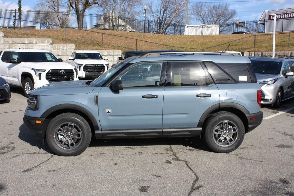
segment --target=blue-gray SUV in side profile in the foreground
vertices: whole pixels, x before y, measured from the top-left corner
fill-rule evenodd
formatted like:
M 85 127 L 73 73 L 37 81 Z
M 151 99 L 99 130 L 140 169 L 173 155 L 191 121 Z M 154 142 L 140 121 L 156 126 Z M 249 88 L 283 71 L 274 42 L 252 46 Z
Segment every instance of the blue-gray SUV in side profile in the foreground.
M 247 57 L 174 52 L 130 57 L 94 81 L 37 88 L 24 123 L 62 156 L 81 154 L 91 137 L 203 136 L 213 151 L 231 152 L 261 123 L 260 100 Z

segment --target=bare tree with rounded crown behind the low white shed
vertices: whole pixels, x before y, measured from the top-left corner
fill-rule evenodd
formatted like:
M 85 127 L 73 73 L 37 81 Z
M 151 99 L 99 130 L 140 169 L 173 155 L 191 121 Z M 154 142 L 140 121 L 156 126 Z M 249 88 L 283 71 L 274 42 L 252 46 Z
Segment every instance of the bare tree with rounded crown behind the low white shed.
M 192 6 L 191 14 L 201 24 L 225 26 L 225 24 L 235 21 L 237 12 L 230 9 L 229 4 L 196 3 Z

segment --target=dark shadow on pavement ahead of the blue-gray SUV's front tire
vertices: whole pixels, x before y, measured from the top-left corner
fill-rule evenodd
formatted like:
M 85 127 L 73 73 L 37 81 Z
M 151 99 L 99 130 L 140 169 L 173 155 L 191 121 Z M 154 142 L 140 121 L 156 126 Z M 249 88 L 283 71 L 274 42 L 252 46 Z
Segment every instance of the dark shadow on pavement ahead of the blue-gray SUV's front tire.
M 22 124 L 19 127 L 19 139 L 24 142 L 29 143 L 31 146 L 38 147 L 39 149 L 43 149 L 44 151 L 53 154 L 54 152 L 49 148 L 47 143 L 43 145 L 43 141 L 36 139 L 35 134 L 31 131 L 25 124 Z M 55 154 L 55 153 L 54 153 Z

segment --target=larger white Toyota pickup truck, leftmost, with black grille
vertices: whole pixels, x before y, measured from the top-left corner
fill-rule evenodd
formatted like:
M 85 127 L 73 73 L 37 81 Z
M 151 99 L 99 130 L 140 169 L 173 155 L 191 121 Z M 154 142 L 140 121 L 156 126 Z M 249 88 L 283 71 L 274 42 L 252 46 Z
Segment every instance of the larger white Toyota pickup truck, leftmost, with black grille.
M 6 49 L 0 52 L 0 77 L 20 86 L 24 95 L 51 82 L 78 80 L 77 69 L 51 52 L 35 49 Z

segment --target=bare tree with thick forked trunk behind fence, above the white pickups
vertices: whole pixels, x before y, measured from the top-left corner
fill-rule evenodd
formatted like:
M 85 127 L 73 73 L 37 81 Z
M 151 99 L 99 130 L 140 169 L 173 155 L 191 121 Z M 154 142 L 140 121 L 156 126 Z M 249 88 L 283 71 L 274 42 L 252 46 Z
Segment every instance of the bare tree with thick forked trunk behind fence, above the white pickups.
M 102 3 L 98 3 L 98 0 L 92 0 L 91 2 L 90 0 L 69 0 L 69 4 L 76 12 L 76 17 L 78 20 L 78 29 L 83 29 L 83 20 L 86 9 L 93 5 L 102 5 Z

